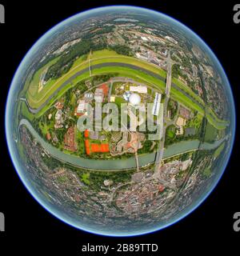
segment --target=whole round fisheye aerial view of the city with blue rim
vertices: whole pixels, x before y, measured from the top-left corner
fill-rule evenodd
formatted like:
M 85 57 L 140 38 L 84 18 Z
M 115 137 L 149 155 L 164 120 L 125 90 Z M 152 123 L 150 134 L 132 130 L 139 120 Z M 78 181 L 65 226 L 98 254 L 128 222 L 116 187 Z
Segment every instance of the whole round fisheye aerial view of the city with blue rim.
M 134 6 L 54 26 L 6 104 L 10 156 L 30 194 L 94 234 L 146 234 L 190 214 L 221 178 L 234 131 L 230 84 L 210 48 Z

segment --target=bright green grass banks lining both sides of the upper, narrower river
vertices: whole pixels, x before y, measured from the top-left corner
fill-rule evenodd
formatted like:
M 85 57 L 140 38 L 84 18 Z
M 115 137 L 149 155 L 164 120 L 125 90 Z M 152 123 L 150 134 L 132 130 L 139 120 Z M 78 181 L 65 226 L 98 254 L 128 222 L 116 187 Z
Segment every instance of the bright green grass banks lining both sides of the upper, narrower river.
M 46 64 L 46 66 L 42 67 L 41 70 L 38 70 L 36 74 L 34 74 L 34 78 L 30 82 L 29 88 L 26 92 L 26 98 L 29 102 L 29 105 L 32 108 L 37 109 L 39 106 L 42 106 L 46 102 L 48 98 L 50 98 L 50 95 L 54 94 L 55 90 L 58 90 L 60 86 L 62 86 L 63 82 L 66 82 L 69 78 L 71 78 L 74 74 L 76 74 L 78 71 L 81 71 L 83 69 L 88 68 L 89 66 L 89 58 L 91 65 L 97 65 L 100 63 L 107 63 L 107 62 L 119 62 L 119 63 L 128 63 L 132 64 L 134 66 L 139 66 L 142 67 L 143 69 L 150 70 L 151 72 L 154 72 L 155 74 L 159 74 L 162 76 L 162 78 L 166 78 L 166 71 L 159 69 L 157 66 L 154 66 L 153 64 L 143 62 L 141 60 L 138 60 L 136 58 L 132 57 L 127 57 L 123 55 L 116 54 L 112 50 L 99 50 L 94 52 L 93 54 L 84 55 L 81 58 L 78 58 L 76 62 L 74 62 L 74 66 L 71 68 L 71 70 L 62 76 L 62 78 L 58 78 L 57 81 L 50 81 L 47 82 L 46 85 L 42 88 L 40 92 L 38 92 L 38 84 L 39 84 L 39 79 L 41 77 L 41 74 L 46 68 L 49 66 L 53 65 L 54 62 L 58 60 L 58 58 L 55 58 L 53 61 L 49 62 Z M 92 70 L 92 75 L 99 75 L 99 74 L 109 74 L 109 73 L 118 73 L 119 76 L 124 76 L 128 78 L 133 78 L 137 82 L 143 82 L 147 86 L 152 86 L 155 88 L 158 88 L 159 90 L 162 90 L 164 92 L 166 83 L 163 82 L 162 80 L 159 80 L 158 78 L 154 78 L 150 76 L 149 74 L 146 74 L 143 71 L 140 70 L 133 70 L 130 69 L 129 67 L 123 67 L 123 66 L 106 66 L 98 69 Z M 60 98 L 63 94 L 66 93 L 66 90 L 69 90 L 70 87 L 74 86 L 77 82 L 80 82 L 82 80 L 85 80 L 86 78 L 89 78 L 90 74 L 89 71 L 86 71 L 84 74 L 79 75 L 77 78 L 74 78 L 70 84 L 64 86 L 58 94 L 54 96 L 36 114 L 36 117 L 41 116 L 43 113 L 45 113 L 46 110 L 50 108 L 50 106 L 54 103 L 54 101 L 57 98 Z M 184 90 L 187 94 L 190 95 L 190 97 L 194 98 L 196 102 L 193 102 L 191 98 L 187 97 L 185 94 L 182 94 L 181 91 L 177 90 L 176 88 L 172 87 L 170 91 L 170 97 L 173 98 L 174 100 L 177 100 L 178 102 L 181 102 L 183 105 L 189 107 L 191 110 L 197 110 L 199 114 L 202 116 L 205 115 L 205 111 L 203 109 L 204 102 L 202 101 L 202 98 L 199 98 L 197 94 L 194 94 L 190 88 L 182 82 L 179 82 L 176 79 L 173 79 L 173 82 L 179 86 L 182 90 Z M 197 103 L 199 102 L 199 104 Z M 201 106 L 199 106 L 201 105 Z M 24 113 L 28 119 L 31 120 L 31 114 L 28 110 L 26 110 L 26 104 L 22 104 L 22 109 L 24 110 Z M 214 114 L 213 110 L 210 110 L 209 108 L 207 109 L 206 113 L 206 118 L 210 122 L 212 126 L 214 126 L 216 129 L 225 129 L 227 122 L 220 120 L 216 114 Z

